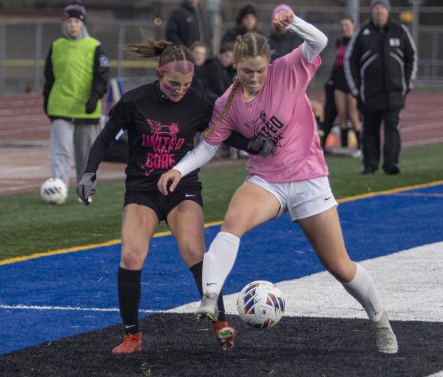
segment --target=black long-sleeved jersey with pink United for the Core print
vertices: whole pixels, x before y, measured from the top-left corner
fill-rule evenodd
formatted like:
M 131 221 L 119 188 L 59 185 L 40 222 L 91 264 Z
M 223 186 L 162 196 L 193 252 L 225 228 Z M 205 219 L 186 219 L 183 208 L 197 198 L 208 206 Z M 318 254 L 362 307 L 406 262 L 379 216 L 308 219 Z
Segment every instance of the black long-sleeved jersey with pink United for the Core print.
M 207 128 L 212 109 L 211 103 L 192 88 L 180 101 L 169 100 L 161 92 L 159 81 L 127 91 L 109 112 L 109 120 L 91 147 L 86 172 L 96 172 L 107 147 L 124 129 L 129 141 L 126 188 L 156 188 L 160 175 L 194 148 L 194 136 Z M 249 140 L 241 134 L 230 139 L 228 144 L 247 148 Z M 183 184 L 196 182 L 197 172 L 184 177 Z

